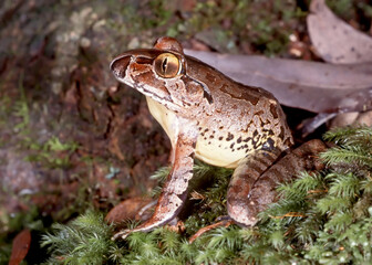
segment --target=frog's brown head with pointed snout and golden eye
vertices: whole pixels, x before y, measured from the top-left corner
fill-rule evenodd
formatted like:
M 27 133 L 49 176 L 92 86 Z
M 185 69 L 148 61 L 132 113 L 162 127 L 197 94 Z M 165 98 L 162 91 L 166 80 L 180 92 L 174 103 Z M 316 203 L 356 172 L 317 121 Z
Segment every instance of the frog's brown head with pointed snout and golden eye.
M 111 70 L 117 81 L 172 110 L 182 112 L 204 100 L 213 103 L 207 85 L 187 75 L 187 60 L 179 42 L 164 36 L 154 49 L 133 50 L 117 56 Z

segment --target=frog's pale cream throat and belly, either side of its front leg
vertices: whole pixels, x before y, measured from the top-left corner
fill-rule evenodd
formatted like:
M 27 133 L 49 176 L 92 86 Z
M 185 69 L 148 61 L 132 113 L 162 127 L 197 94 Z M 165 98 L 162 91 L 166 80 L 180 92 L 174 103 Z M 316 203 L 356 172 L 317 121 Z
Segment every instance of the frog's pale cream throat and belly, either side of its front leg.
M 164 107 L 162 104 L 146 96 L 147 105 L 151 114 L 162 125 L 165 132 L 168 135 L 172 146 L 176 140 L 175 126 L 176 115 Z M 231 149 L 232 141 L 224 141 L 215 139 L 205 139 L 199 136 L 196 142 L 195 156 L 196 158 L 217 167 L 236 168 L 239 160 L 246 157 L 248 153 L 246 149 L 240 150 Z

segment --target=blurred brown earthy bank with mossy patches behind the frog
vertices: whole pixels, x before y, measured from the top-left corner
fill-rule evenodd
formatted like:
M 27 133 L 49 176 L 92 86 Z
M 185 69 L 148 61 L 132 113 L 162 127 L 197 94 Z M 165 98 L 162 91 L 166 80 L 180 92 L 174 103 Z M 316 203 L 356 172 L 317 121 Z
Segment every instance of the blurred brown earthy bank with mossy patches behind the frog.
M 368 2 L 329 4 L 371 34 Z M 43 231 L 86 209 L 106 213 L 156 184 L 148 177 L 167 165 L 170 144 L 144 97 L 110 73 L 115 55 L 170 35 L 187 49 L 320 61 L 306 28 L 308 4 L 2 1 L 0 261 L 9 257 L 12 240 L 24 227 Z

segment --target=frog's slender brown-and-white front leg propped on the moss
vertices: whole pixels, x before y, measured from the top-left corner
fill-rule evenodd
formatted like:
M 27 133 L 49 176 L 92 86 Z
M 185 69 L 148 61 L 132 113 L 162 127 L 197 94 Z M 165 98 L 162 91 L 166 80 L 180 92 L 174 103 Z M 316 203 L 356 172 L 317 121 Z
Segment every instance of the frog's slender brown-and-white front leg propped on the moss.
M 193 124 L 178 118 L 174 123 L 176 137 L 173 146 L 172 170 L 163 187 L 153 216 L 133 230 L 116 233 L 113 240 L 125 239 L 130 233 L 151 231 L 174 219 L 187 197 L 188 182 L 193 178 L 194 153 L 197 139 L 197 128 Z

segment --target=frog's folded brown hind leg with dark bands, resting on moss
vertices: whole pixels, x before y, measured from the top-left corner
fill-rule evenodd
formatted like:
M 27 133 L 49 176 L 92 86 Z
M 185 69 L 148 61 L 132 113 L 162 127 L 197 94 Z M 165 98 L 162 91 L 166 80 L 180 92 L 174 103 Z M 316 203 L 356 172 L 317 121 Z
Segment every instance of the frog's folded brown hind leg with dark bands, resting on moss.
M 326 148 L 322 141 L 311 140 L 275 165 L 272 162 L 280 155 L 278 149 L 258 150 L 244 159 L 234 171 L 228 189 L 229 216 L 239 225 L 255 225 L 258 222 L 257 214 L 277 200 L 278 183 L 291 180 L 300 171 L 321 168 L 322 163 L 316 158 Z

